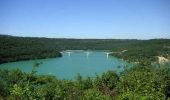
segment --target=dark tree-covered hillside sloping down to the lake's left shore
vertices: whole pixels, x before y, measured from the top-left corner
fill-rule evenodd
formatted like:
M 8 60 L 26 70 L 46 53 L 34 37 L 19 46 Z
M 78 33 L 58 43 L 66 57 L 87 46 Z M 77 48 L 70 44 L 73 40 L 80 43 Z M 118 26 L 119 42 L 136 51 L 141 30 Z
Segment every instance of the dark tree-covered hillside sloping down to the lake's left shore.
M 0 36 L 0 64 L 60 56 L 59 51 L 39 39 Z

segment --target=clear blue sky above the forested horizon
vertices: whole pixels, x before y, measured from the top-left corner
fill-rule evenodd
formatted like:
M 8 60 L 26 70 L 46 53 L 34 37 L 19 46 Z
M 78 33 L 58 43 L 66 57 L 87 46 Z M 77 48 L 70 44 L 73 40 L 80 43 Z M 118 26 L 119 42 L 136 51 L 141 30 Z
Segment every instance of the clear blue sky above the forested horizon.
M 170 0 L 0 0 L 0 34 L 170 38 Z

